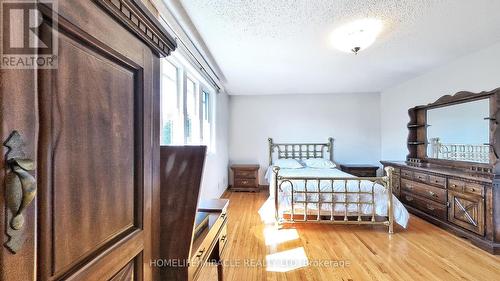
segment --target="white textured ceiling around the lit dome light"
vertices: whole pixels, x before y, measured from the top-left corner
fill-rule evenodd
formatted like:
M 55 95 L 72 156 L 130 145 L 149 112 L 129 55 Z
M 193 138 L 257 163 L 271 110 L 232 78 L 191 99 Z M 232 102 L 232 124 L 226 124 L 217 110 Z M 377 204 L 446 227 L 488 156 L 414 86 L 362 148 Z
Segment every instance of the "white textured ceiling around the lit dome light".
M 500 41 L 500 0 L 180 0 L 230 94 L 379 92 Z M 350 21 L 384 22 L 355 56 Z M 500 58 L 494 58 L 500 59 Z

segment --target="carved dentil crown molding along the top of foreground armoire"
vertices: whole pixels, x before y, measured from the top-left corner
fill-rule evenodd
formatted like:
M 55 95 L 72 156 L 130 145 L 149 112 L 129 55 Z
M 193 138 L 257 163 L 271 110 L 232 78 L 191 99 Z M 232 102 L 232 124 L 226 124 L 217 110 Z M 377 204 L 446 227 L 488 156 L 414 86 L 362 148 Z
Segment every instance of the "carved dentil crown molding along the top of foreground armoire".
M 140 0 L 93 0 L 116 21 L 144 41 L 153 52 L 165 57 L 177 47 L 167 31 Z

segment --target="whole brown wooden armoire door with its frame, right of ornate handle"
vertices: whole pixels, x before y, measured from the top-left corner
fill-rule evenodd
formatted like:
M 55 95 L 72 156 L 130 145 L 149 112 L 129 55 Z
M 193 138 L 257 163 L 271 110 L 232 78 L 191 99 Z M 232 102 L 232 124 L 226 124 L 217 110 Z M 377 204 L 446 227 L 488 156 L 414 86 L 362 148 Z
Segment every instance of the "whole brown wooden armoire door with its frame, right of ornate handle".
M 62 18 L 58 48 L 39 71 L 40 280 L 148 279 L 152 73 Z

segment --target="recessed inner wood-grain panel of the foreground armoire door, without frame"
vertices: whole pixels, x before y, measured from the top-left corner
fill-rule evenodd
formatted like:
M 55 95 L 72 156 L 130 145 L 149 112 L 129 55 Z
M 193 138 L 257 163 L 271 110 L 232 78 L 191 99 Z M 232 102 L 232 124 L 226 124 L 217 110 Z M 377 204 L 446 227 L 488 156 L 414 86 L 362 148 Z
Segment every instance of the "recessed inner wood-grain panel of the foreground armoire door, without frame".
M 63 36 L 59 60 L 52 96 L 56 272 L 133 226 L 140 165 L 134 159 L 134 73 Z M 82 234 L 82 226 L 94 231 Z

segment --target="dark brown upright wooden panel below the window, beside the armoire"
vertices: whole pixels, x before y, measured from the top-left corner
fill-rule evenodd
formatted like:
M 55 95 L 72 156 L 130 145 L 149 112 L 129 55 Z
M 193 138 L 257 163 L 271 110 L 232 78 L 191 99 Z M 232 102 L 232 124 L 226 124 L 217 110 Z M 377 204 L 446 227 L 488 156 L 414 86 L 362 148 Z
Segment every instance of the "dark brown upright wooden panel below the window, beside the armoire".
M 160 150 L 160 259 L 190 258 L 206 146 Z M 158 268 L 161 280 L 187 280 L 187 267 Z

